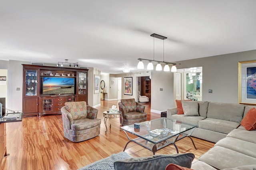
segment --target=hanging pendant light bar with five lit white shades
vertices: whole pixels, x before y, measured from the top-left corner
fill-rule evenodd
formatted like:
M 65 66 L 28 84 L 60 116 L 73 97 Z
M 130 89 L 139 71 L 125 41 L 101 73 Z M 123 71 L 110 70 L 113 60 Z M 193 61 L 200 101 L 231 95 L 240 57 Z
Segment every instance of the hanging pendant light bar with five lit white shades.
M 158 34 L 151 34 L 150 35 L 151 37 L 154 37 L 154 38 L 159 38 L 161 40 L 165 40 L 167 39 L 167 37 L 164 37 L 164 36 L 160 36 Z M 163 41 L 163 44 L 164 44 L 164 41 Z M 169 63 L 169 62 L 166 62 L 164 61 L 164 45 L 163 45 L 163 61 L 156 61 L 155 60 L 155 42 L 154 42 L 154 52 L 153 52 L 153 60 L 152 59 L 143 59 L 143 58 L 138 58 L 139 60 L 139 63 L 138 63 L 138 66 L 137 68 L 138 69 L 144 69 L 144 64 L 142 62 L 142 60 L 145 60 L 145 61 L 149 61 L 148 63 L 148 66 L 147 66 L 147 69 L 148 70 L 153 70 L 154 69 L 154 66 L 153 66 L 153 62 L 158 62 L 158 64 L 156 65 L 156 70 L 157 71 L 161 71 L 162 70 L 162 65 L 160 63 L 165 63 L 165 66 L 164 66 L 164 71 L 170 71 L 170 67 L 168 64 L 172 64 L 172 68 L 171 68 L 171 71 L 172 72 L 176 72 L 177 71 L 177 68 L 176 68 L 176 63 Z

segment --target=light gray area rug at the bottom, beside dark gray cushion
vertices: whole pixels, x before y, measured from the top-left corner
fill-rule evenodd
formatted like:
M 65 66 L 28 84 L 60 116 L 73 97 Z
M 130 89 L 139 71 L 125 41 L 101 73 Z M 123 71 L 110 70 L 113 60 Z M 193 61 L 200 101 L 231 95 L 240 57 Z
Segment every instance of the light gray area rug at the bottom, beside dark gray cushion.
M 132 158 L 132 156 L 126 152 L 120 152 L 118 154 L 112 154 L 104 159 L 93 162 L 92 164 L 84 166 L 78 170 L 114 170 L 114 162 L 127 158 Z

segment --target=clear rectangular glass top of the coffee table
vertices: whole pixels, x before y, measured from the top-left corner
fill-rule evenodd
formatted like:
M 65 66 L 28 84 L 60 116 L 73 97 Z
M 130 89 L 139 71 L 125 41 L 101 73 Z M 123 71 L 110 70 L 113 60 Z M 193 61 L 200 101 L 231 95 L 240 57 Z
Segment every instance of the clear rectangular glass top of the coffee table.
M 140 123 L 140 128 L 134 128 L 134 125 L 121 128 L 153 144 L 158 144 L 195 127 L 197 126 L 162 117 L 160 119 L 142 122 Z

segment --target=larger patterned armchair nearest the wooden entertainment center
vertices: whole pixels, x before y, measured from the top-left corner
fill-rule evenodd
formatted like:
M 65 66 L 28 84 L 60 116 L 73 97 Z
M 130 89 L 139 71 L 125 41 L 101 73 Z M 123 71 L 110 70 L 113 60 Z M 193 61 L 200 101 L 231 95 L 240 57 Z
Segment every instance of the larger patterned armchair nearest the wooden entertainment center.
M 86 105 L 85 101 L 66 102 L 61 114 L 64 136 L 72 142 L 88 140 L 100 134 L 98 109 Z

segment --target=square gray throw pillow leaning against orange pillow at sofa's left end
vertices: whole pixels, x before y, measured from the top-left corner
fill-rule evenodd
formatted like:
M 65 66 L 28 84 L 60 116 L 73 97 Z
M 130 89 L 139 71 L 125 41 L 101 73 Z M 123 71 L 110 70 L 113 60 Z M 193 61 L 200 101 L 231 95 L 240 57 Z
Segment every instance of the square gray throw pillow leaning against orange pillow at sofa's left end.
M 199 116 L 197 101 L 181 101 L 184 116 Z

